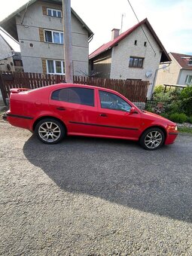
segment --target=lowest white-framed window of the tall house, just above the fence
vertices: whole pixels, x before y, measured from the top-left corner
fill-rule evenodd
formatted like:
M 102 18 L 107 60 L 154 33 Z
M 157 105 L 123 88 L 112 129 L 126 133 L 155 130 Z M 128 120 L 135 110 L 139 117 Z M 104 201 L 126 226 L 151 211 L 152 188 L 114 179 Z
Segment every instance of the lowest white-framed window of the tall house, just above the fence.
M 65 74 L 65 62 L 62 60 L 47 59 L 48 74 Z

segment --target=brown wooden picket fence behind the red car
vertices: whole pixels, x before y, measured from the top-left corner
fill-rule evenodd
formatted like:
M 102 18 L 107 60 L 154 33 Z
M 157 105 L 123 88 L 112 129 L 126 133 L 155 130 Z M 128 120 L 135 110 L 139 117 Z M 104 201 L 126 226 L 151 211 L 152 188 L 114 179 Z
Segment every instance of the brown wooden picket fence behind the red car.
M 89 84 L 96 87 L 105 87 L 116 90 L 132 102 L 145 102 L 148 93 L 148 81 L 118 80 L 108 78 L 89 78 L 74 76 L 74 84 Z M 2 90 L 3 100 L 10 96 L 11 88 L 30 88 L 45 87 L 50 84 L 65 83 L 64 75 L 47 75 L 38 73 L 11 72 L 0 73 L 0 89 Z

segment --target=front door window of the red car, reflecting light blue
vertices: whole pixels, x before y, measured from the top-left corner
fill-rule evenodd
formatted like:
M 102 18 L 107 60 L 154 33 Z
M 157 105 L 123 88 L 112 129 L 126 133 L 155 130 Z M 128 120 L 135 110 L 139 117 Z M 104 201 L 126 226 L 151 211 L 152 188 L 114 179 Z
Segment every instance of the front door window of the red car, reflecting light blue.
M 99 90 L 99 97 L 102 108 L 130 112 L 131 105 L 114 93 Z

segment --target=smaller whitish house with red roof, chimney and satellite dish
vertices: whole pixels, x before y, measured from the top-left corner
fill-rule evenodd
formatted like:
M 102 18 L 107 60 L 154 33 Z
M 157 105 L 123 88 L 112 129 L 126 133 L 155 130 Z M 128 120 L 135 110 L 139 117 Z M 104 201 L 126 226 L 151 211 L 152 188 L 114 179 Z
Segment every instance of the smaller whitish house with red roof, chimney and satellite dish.
M 148 80 L 150 97 L 160 62 L 171 59 L 148 19 L 119 31 L 113 29 L 111 41 L 90 54 L 90 69 L 102 78 Z

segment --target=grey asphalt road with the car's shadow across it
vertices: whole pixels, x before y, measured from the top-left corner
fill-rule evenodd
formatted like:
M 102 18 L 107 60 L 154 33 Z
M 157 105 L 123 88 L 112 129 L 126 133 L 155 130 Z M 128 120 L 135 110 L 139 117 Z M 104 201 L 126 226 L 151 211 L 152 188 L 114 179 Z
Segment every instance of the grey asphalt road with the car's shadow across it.
M 0 122 L 1 255 L 191 255 L 192 136 L 44 145 Z

